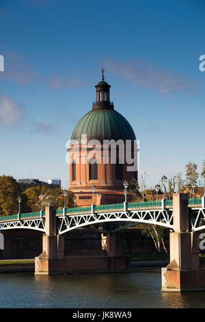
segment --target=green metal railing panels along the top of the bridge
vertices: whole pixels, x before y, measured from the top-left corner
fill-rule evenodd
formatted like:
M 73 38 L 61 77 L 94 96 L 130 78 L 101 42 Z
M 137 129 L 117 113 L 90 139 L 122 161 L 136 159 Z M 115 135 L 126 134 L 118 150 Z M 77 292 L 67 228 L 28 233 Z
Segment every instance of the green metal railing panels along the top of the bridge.
M 166 206 L 173 206 L 173 200 L 166 199 L 165 202 Z M 201 205 L 202 204 L 202 198 L 190 198 L 189 199 L 189 206 L 195 206 L 195 205 Z M 146 207 L 161 207 L 161 200 L 158 201 L 139 201 L 139 202 L 128 202 L 128 208 L 146 208 Z M 122 210 L 124 208 L 124 203 L 111 203 L 109 205 L 100 205 L 95 206 L 96 211 L 103 211 L 103 210 Z M 83 213 L 83 212 L 91 212 L 92 207 L 75 207 L 75 208 L 66 208 L 66 214 L 72 214 L 72 213 Z M 56 214 L 64 214 L 64 209 L 57 209 Z M 42 216 L 45 215 L 45 211 L 42 211 Z M 29 218 L 35 218 L 40 217 L 40 211 L 38 212 L 27 212 L 20 214 L 20 219 L 29 219 Z M 17 220 L 18 214 L 12 214 L 10 216 L 0 216 L 0 222 L 1 221 L 11 221 L 11 220 Z

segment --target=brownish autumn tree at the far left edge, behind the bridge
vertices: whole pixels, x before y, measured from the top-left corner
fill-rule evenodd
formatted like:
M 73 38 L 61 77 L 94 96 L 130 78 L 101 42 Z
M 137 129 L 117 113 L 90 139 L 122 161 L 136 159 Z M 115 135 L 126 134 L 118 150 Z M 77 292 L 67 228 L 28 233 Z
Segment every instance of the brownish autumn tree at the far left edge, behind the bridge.
M 0 177 L 0 212 L 1 216 L 17 214 L 18 194 L 20 187 L 14 177 L 1 175 Z

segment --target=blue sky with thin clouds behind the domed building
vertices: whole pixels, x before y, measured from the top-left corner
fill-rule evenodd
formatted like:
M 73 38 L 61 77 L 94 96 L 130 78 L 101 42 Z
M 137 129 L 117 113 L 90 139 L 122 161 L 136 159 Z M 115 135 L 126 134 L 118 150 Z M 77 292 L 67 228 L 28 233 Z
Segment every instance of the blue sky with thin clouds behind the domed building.
M 1 0 L 0 175 L 59 178 L 66 141 L 105 69 L 140 141 L 148 185 L 204 151 L 203 0 Z

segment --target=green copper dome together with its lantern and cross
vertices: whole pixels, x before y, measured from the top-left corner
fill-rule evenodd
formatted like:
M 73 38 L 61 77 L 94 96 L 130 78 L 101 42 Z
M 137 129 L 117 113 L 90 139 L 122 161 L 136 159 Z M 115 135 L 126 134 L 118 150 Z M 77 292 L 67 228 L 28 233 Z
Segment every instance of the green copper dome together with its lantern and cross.
M 77 123 L 72 132 L 72 140 L 81 143 L 81 136 L 87 134 L 87 142 L 90 140 L 136 140 L 135 133 L 128 121 L 120 113 L 114 110 L 110 101 L 109 88 L 104 81 L 104 69 L 102 69 L 102 81 L 96 87 L 96 101 L 92 110 L 85 114 Z

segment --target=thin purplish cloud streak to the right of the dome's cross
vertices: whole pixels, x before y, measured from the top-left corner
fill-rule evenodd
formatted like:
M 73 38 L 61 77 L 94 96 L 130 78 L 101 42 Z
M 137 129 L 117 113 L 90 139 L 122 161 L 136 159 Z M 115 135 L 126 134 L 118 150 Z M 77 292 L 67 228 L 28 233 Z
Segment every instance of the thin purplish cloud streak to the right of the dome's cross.
M 128 79 L 139 86 L 154 88 L 162 94 L 190 90 L 197 86 L 196 83 L 187 81 L 181 75 L 138 59 L 128 64 L 110 60 L 106 63 L 106 67 L 111 73 L 123 79 Z

